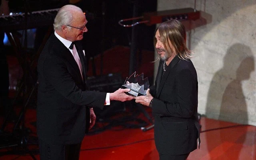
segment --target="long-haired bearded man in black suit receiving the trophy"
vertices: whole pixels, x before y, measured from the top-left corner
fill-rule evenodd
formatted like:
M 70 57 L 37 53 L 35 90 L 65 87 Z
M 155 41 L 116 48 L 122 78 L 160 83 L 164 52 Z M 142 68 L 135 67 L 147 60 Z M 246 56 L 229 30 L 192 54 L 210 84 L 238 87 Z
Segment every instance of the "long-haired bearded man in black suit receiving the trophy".
M 186 46 L 186 31 L 178 20 L 156 28 L 154 44 L 160 59 L 155 86 L 136 102 L 152 108 L 154 139 L 160 160 L 185 160 L 200 142 L 198 81 Z

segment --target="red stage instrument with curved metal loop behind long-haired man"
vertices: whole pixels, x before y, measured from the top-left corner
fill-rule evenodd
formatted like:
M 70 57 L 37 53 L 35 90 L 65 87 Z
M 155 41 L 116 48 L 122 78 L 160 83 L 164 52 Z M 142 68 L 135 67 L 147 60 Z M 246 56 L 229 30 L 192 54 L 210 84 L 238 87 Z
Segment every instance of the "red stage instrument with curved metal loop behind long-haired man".
M 200 11 L 194 8 L 181 8 L 174 10 L 163 10 L 157 12 L 145 12 L 143 16 L 123 19 L 118 22 L 123 27 L 133 27 L 137 24 L 146 24 L 151 26 L 153 24 L 158 24 L 165 22 L 167 20 L 176 19 L 176 20 L 197 20 L 201 16 Z M 140 22 L 134 24 L 122 24 L 122 22 L 130 20 L 142 19 Z

